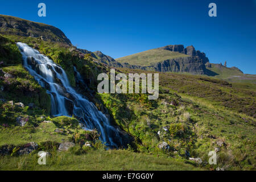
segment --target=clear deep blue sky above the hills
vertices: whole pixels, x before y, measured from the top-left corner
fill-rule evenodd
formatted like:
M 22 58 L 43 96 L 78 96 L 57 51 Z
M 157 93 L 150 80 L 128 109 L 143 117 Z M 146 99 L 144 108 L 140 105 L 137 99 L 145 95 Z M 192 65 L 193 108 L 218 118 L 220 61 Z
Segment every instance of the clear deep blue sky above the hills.
M 38 16 L 38 3 L 47 16 Z M 217 5 L 217 17 L 208 5 Z M 169 44 L 195 46 L 211 63 L 256 74 L 256 0 L 1 1 L 0 14 L 51 24 L 72 44 L 114 58 Z

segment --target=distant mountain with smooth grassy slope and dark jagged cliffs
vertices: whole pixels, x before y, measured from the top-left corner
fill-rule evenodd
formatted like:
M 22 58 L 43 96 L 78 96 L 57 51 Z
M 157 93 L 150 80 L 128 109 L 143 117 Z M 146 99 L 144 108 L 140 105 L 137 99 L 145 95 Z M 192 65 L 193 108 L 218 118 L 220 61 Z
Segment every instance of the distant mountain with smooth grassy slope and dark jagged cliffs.
M 169 45 L 121 57 L 117 61 L 125 68 L 214 75 L 205 68 L 205 63 L 209 62 L 205 53 L 196 51 L 193 46 Z

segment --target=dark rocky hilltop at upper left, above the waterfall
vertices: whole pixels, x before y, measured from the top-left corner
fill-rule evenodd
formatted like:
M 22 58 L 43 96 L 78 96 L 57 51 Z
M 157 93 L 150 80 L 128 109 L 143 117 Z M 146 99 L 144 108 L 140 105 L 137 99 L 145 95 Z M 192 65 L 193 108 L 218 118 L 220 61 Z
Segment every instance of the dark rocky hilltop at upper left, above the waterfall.
M 59 28 L 14 16 L 0 15 L 0 34 L 40 38 L 71 45 L 71 41 Z

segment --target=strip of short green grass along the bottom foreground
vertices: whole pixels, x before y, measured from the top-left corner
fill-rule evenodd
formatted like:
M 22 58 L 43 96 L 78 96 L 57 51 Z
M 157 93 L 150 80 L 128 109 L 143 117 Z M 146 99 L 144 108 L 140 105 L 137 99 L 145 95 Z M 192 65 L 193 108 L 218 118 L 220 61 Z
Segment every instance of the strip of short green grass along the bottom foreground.
M 88 151 L 74 155 L 72 152 L 54 152 L 46 165 L 38 164 L 38 156 L 0 156 L 0 170 L 201 170 L 185 160 L 137 154 L 125 150 Z M 187 162 L 190 163 L 190 162 Z

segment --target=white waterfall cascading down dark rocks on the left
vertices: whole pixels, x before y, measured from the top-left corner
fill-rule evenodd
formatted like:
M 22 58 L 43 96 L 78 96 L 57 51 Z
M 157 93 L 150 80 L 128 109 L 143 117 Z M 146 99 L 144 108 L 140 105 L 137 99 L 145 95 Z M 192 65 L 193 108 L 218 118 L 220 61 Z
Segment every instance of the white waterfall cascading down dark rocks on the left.
M 69 85 L 67 74 L 59 65 L 27 44 L 17 43 L 17 46 L 23 56 L 23 66 L 51 96 L 51 115 L 71 116 L 73 114 L 84 123 L 87 129 L 96 129 L 106 146 L 122 145 L 118 129 L 110 125 L 109 119 L 98 111 L 92 102 L 86 100 Z M 82 81 L 75 67 L 74 71 L 77 78 Z

